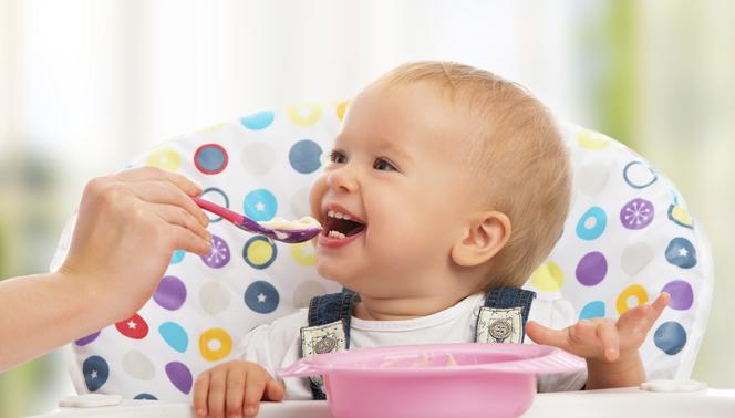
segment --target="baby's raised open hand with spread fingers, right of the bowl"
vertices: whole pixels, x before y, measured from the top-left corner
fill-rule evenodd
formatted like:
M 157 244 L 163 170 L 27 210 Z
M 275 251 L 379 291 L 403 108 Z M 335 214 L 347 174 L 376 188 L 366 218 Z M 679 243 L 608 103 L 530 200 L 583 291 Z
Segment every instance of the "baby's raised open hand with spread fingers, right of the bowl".
M 669 304 L 663 292 L 653 304 L 642 304 L 611 318 L 582 320 L 565 330 L 551 330 L 536 322 L 526 327 L 528 336 L 538 344 L 552 345 L 588 360 L 615 362 L 621 355 L 638 354 L 653 323 Z

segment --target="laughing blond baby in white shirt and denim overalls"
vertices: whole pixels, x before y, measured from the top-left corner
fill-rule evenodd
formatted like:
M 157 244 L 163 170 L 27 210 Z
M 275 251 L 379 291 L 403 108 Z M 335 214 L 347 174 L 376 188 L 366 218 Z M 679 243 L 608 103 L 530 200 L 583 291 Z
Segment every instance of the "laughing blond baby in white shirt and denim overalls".
M 521 343 L 525 333 L 587 359 L 582 373 L 541 377 L 539 390 L 645 379 L 638 349 L 667 294 L 618 321 L 573 324 L 520 289 L 561 236 L 571 188 L 560 134 L 524 88 L 457 63 L 402 65 L 354 97 L 330 158 L 310 195 L 324 226 L 317 270 L 344 291 L 250 332 L 242 360 L 197 378 L 198 416 L 253 416 L 265 399 L 323 399 L 318 376 L 276 377 L 302 356 Z M 526 326 L 529 317 L 537 322 Z

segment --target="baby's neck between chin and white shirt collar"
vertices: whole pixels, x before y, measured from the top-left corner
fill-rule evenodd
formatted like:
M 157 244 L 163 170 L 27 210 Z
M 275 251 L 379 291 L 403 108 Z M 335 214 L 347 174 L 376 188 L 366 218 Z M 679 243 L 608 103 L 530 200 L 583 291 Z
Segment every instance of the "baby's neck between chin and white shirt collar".
M 414 299 L 377 299 L 360 295 L 352 315 L 365 321 L 405 321 L 428 316 L 454 306 L 462 297 L 425 296 Z

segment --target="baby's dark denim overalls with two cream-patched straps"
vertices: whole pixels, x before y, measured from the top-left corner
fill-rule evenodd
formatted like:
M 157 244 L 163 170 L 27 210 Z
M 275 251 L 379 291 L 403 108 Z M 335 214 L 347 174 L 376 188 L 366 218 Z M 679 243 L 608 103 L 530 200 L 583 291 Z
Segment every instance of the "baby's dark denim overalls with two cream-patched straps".
M 518 288 L 490 290 L 477 315 L 475 342 L 522 343 L 534 297 L 535 292 Z M 309 326 L 301 328 L 301 356 L 350 349 L 350 320 L 359 300 L 356 293 L 346 289 L 313 297 L 309 303 Z M 314 399 L 327 399 L 321 376 L 312 376 L 310 384 Z

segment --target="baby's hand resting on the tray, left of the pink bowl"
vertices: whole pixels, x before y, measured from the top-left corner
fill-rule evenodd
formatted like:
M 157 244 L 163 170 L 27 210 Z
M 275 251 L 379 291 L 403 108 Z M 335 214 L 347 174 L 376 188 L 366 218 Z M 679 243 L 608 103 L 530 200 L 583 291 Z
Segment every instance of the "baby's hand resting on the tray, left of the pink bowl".
M 256 363 L 220 364 L 200 374 L 194 384 L 197 417 L 255 417 L 260 400 L 283 400 L 283 384 Z

